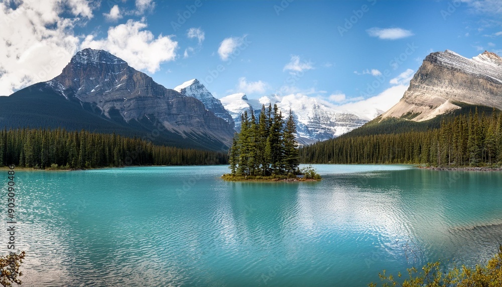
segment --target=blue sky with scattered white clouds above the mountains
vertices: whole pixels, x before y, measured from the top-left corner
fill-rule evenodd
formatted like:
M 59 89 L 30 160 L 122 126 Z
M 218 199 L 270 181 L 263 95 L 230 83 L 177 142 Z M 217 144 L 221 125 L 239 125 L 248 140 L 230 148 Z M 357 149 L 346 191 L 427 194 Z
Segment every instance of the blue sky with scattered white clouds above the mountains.
M 387 108 L 431 52 L 502 54 L 500 6 L 499 0 L 7 1 L 0 4 L 0 94 L 56 76 L 76 51 L 91 47 L 169 88 L 198 78 L 216 98 L 295 93 L 352 108 L 373 98 L 361 105 L 388 102 Z

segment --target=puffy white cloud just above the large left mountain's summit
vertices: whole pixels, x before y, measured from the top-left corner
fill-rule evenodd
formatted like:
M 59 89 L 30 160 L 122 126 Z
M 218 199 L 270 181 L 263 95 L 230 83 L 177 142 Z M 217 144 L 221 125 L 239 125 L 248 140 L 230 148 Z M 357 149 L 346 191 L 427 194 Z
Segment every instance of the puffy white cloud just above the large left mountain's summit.
M 129 20 L 108 29 L 106 39 L 95 40 L 90 35 L 85 38 L 82 48 L 103 49 L 127 61 L 132 67 L 155 73 L 160 64 L 176 58 L 178 42 L 170 36 L 157 38 L 145 31 L 147 24 Z

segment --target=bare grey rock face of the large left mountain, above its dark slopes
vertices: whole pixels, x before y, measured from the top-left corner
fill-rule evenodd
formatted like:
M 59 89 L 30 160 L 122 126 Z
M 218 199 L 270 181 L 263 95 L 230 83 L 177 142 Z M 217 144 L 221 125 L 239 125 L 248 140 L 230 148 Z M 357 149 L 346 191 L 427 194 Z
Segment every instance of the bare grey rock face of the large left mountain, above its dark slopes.
M 106 117 L 114 109 L 128 123 L 157 120 L 187 138 L 202 136 L 230 144 L 233 137 L 233 126 L 199 100 L 165 88 L 106 51 L 78 52 L 59 76 L 46 83 L 68 100 L 94 105 Z

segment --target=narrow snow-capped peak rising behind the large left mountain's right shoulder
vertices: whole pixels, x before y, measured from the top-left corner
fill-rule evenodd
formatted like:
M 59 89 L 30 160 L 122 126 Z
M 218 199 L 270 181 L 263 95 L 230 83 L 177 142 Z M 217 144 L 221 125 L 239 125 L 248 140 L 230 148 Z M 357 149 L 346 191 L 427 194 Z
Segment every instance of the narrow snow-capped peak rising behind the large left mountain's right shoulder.
M 186 97 L 195 98 L 204 104 L 206 110 L 213 112 L 218 118 L 222 118 L 232 127 L 234 127 L 234 122 L 232 116 L 223 108 L 221 102 L 214 98 L 213 95 L 206 89 L 206 87 L 199 82 L 197 79 L 192 79 L 182 83 L 181 85 L 174 88 L 182 95 Z

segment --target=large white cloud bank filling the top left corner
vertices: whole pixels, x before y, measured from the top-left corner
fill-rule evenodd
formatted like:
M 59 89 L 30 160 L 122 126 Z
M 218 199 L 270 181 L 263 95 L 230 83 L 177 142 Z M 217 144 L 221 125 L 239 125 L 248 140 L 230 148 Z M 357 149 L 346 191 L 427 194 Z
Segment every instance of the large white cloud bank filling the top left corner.
M 47 81 L 61 73 L 78 49 L 75 23 L 92 18 L 85 2 L 58 0 L 0 2 L 0 95 Z M 68 19 L 62 15 L 73 15 Z

